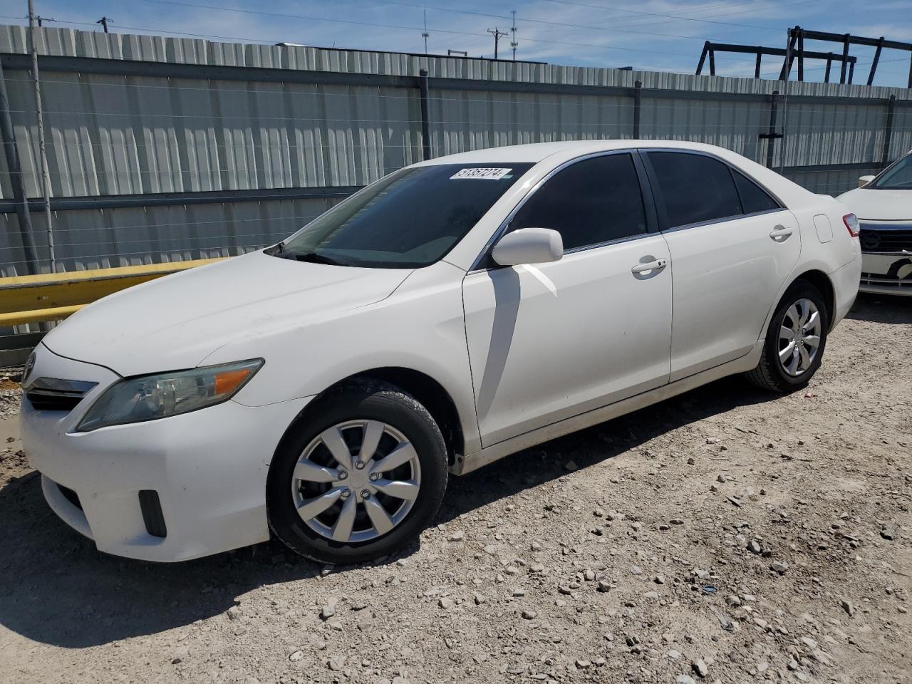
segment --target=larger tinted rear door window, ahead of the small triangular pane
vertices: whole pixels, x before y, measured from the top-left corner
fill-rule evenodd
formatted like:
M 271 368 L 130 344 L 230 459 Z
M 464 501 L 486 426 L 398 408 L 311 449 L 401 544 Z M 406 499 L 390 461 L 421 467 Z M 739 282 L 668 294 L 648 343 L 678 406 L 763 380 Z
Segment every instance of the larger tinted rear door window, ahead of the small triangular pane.
M 741 213 L 729 167 L 721 161 L 681 152 L 647 154 L 665 199 L 669 228 Z

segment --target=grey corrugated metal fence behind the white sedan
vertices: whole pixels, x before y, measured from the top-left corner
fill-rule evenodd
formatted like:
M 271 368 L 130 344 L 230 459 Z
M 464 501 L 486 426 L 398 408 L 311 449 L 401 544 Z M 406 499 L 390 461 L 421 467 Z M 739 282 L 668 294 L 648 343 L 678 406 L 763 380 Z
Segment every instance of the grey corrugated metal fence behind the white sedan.
M 57 270 L 240 254 L 452 152 L 699 140 L 837 193 L 912 148 L 912 90 L 41 29 Z M 0 64 L 47 272 L 26 29 Z M 29 270 L 0 156 L 0 276 Z

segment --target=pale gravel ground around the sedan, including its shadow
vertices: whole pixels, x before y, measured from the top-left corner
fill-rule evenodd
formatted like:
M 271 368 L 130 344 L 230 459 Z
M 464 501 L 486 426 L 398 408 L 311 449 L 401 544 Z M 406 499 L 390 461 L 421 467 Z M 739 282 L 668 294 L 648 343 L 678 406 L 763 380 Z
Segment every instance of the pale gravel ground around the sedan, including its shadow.
M 451 481 L 420 543 L 152 565 L 57 520 L 0 384 L 0 681 L 912 680 L 912 300 L 809 389 L 729 378 Z

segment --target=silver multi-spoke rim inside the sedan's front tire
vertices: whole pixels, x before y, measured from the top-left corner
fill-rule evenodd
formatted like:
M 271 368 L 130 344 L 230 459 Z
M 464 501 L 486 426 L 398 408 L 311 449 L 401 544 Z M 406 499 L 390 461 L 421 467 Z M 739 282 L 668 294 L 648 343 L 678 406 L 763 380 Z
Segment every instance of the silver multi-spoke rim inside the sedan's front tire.
M 418 498 L 421 469 L 411 442 L 379 420 L 347 420 L 302 451 L 292 475 L 301 520 L 327 539 L 368 542 L 389 533 Z

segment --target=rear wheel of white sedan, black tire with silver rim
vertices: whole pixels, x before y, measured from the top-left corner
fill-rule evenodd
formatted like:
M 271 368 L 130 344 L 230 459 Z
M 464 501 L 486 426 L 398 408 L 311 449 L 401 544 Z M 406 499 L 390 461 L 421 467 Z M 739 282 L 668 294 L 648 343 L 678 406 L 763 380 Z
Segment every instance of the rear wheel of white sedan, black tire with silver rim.
M 795 313 L 799 315 L 803 313 L 802 306 L 804 302 L 810 302 L 813 305 L 819 319 L 815 319 L 814 314 L 811 313 L 808 316 L 807 324 L 800 326 L 801 316 L 799 316 L 797 321 L 799 327 L 795 328 L 793 325 Z M 809 308 L 808 310 L 810 311 L 811 309 Z M 785 336 L 783 328 L 791 329 L 795 338 L 790 340 L 789 337 Z M 757 368 L 747 373 L 747 378 L 757 387 L 768 389 L 772 392 L 785 393 L 802 389 L 814 377 L 817 368 L 820 368 L 820 363 L 824 358 L 829 328 L 830 317 L 820 290 L 806 281 L 797 281 L 782 296 L 782 301 L 776 307 L 770 320 L 770 328 L 766 332 L 766 341 L 763 343 L 760 363 Z M 805 336 L 803 331 L 806 331 L 809 337 Z M 810 351 L 812 347 L 804 340 L 812 339 L 814 337 L 813 333 L 819 338 L 819 342 L 812 353 Z M 793 347 L 789 347 L 790 341 L 793 343 Z M 798 342 L 802 344 L 798 345 Z M 792 349 L 791 353 L 788 352 L 789 348 Z M 799 353 L 802 348 L 807 352 L 810 363 L 806 363 L 807 359 L 803 358 Z M 786 354 L 784 361 L 780 360 L 781 353 Z M 796 356 L 799 360 L 794 363 Z M 792 366 L 793 368 L 790 370 Z

